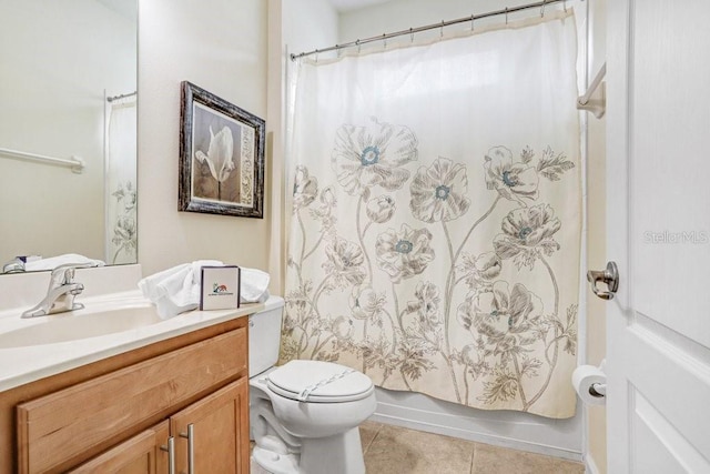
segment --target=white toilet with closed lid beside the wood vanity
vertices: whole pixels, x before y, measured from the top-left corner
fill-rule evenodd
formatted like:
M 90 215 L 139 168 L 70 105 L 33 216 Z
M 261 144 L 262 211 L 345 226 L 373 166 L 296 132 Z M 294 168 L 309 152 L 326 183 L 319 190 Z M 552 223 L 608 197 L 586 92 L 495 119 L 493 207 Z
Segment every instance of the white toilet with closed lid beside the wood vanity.
M 321 361 L 276 367 L 284 300 L 270 296 L 250 316 L 248 376 L 252 458 L 274 474 L 362 474 L 357 426 L 375 412 L 372 380 Z

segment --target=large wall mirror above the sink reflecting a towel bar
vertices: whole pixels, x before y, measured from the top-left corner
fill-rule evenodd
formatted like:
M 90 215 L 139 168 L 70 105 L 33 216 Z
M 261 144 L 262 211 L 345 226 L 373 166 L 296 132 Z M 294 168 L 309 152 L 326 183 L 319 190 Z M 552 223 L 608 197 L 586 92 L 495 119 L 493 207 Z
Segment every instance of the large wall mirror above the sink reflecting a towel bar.
M 138 0 L 0 0 L 0 265 L 136 262 L 136 69 Z

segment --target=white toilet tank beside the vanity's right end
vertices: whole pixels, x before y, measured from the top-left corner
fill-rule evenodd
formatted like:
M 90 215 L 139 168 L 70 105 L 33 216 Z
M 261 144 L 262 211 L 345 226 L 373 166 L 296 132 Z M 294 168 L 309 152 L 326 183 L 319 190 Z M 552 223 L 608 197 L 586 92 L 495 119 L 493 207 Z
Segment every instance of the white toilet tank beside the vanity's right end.
M 248 376 L 276 365 L 281 346 L 284 299 L 268 296 L 264 309 L 248 316 Z

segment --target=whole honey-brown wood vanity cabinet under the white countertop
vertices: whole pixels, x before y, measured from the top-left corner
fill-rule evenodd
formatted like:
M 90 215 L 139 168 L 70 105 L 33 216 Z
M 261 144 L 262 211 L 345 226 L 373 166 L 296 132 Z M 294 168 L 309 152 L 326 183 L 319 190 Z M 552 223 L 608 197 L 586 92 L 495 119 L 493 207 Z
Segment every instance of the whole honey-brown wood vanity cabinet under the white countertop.
M 194 472 L 247 474 L 246 323 L 99 361 L 9 391 L 16 396 L 0 393 L 0 432 L 9 404 L 17 427 L 14 443 L 0 437 L 0 473 L 168 473 L 172 437 L 175 473 L 189 472 L 192 452 Z M 14 465 L 1 460 L 9 451 Z

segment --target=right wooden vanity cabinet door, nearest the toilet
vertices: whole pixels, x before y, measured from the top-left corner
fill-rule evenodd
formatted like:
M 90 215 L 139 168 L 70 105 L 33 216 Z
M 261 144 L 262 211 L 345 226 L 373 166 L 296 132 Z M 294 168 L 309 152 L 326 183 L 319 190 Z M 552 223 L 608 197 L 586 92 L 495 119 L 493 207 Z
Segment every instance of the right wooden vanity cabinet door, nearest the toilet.
M 248 379 L 233 382 L 171 416 L 170 432 L 175 437 L 178 472 L 190 472 L 192 444 L 192 473 L 247 474 Z

